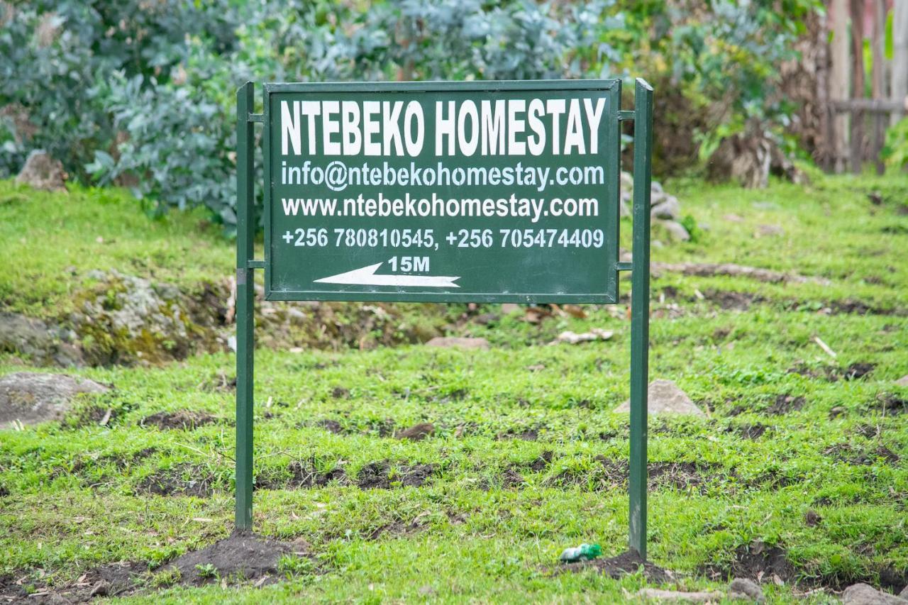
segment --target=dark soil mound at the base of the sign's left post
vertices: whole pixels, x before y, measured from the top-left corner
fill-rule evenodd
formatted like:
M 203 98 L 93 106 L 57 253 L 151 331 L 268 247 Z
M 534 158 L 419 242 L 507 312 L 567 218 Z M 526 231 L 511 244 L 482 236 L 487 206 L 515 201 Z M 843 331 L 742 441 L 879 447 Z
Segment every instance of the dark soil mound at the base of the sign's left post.
M 202 550 L 187 552 L 159 570 L 179 570 L 180 582 L 201 585 L 219 579 L 261 580 L 273 577 L 281 556 L 293 551 L 290 544 L 234 531 L 229 538 Z

